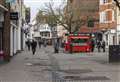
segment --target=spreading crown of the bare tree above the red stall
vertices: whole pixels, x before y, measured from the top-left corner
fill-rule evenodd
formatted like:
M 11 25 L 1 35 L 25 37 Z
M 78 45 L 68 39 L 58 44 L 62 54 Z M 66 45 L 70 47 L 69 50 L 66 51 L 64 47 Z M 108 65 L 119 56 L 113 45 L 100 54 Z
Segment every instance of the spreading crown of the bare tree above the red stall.
M 94 11 L 92 6 L 92 10 L 89 9 L 89 6 L 83 6 L 82 8 L 73 8 L 71 4 L 66 4 L 63 0 L 63 3 L 59 6 L 54 6 L 53 2 L 50 2 L 48 4 L 45 4 L 44 17 L 46 19 L 46 23 L 48 23 L 51 27 L 55 25 L 62 25 L 66 30 L 68 30 L 69 33 L 71 32 L 78 32 L 80 27 L 85 25 L 88 22 L 88 16 L 86 16 L 86 19 L 83 19 L 81 17 L 81 10 L 90 10 Z M 90 12 L 88 11 L 88 12 Z M 41 14 L 38 13 L 37 19 L 39 20 Z

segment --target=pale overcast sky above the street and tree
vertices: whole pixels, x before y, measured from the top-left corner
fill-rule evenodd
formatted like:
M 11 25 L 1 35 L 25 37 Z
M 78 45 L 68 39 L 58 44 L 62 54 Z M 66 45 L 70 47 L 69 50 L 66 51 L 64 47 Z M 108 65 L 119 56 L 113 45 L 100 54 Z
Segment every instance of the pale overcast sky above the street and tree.
M 36 13 L 40 8 L 44 7 L 44 3 L 49 3 L 51 0 L 24 0 L 27 7 L 31 7 L 31 20 L 35 18 Z M 61 4 L 61 0 L 53 0 L 56 4 Z

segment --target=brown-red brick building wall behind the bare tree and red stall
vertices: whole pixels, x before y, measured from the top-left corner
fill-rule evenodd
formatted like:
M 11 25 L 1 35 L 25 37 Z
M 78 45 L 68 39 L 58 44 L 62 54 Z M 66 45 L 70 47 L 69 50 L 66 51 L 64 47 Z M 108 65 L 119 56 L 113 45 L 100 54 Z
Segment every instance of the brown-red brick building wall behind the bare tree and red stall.
M 92 18 L 94 21 L 93 27 L 89 27 L 88 22 L 86 22 L 80 27 L 80 32 L 99 31 L 99 0 L 68 0 L 68 5 L 75 10 L 75 18 L 80 16 L 85 20 Z

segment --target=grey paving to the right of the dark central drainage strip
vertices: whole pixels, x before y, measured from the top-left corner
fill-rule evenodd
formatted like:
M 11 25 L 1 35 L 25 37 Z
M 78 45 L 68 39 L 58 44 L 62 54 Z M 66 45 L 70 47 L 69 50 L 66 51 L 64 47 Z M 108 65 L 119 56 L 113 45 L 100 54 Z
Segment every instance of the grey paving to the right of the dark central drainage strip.
M 108 52 L 54 54 L 65 82 L 120 82 L 120 63 L 109 63 Z

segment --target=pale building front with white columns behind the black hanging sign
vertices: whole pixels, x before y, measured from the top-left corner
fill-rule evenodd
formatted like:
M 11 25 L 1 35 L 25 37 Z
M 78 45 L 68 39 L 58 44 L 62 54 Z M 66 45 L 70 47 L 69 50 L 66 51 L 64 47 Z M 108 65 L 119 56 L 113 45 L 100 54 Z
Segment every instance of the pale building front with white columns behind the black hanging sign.
M 15 0 L 14 3 L 11 3 L 11 12 L 18 13 L 18 20 L 11 20 L 11 56 L 22 50 L 22 5 L 23 0 Z

